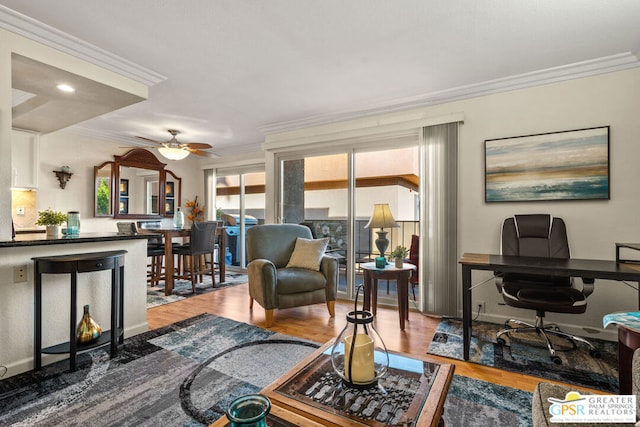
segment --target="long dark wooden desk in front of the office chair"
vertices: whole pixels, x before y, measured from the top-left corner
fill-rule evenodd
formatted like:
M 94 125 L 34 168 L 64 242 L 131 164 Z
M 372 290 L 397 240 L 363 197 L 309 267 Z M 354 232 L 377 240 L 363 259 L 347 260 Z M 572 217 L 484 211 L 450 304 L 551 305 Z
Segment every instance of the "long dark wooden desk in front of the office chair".
M 622 264 L 615 261 L 596 259 L 552 259 L 537 257 L 517 257 L 489 254 L 463 254 L 462 266 L 462 328 L 463 357 L 469 360 L 471 342 L 471 272 L 489 270 L 505 273 L 541 274 L 546 276 L 582 277 L 585 279 L 626 280 L 638 282 L 640 286 L 640 265 Z M 640 290 L 638 291 L 640 308 Z

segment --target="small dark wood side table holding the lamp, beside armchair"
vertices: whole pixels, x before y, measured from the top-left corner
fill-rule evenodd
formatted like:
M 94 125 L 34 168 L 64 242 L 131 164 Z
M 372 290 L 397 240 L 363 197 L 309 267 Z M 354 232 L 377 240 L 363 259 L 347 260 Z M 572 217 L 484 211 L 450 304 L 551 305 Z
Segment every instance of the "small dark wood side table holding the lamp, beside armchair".
M 398 287 L 398 315 L 400 316 L 400 330 L 404 331 L 405 320 L 409 319 L 409 276 L 416 269 L 413 264 L 402 264 L 396 268 L 388 264 L 384 268 L 377 268 L 375 262 L 360 264 L 364 272 L 364 309 L 376 314 L 378 304 L 378 280 L 395 280 Z

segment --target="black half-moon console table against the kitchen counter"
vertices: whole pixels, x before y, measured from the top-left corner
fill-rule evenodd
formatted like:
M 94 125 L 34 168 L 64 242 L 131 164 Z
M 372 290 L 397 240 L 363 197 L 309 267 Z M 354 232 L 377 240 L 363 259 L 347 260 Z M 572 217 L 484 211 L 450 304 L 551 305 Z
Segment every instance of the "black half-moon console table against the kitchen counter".
M 69 367 L 76 370 L 76 353 L 92 348 L 111 345 L 111 357 L 118 354 L 118 343 L 124 341 L 124 254 L 127 251 L 107 251 L 87 254 L 35 257 L 34 278 L 34 370 L 42 368 L 42 353 L 69 353 Z M 104 331 L 93 343 L 77 345 L 77 284 L 78 273 L 111 270 L 111 330 Z M 71 304 L 69 320 L 69 342 L 42 348 L 42 275 L 71 275 Z

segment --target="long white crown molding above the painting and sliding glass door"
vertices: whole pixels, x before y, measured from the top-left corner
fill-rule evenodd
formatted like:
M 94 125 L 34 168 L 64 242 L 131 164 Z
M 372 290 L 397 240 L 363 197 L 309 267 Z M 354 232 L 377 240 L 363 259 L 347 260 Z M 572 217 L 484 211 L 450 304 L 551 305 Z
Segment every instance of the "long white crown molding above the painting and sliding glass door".
M 367 103 L 366 105 L 355 106 L 341 111 L 332 112 L 330 114 L 267 124 L 259 127 L 258 130 L 264 135 L 276 134 L 312 126 L 428 107 L 447 102 L 475 98 L 478 96 L 611 73 L 635 67 L 640 67 L 638 57 L 631 52 L 625 52 L 589 61 L 582 61 L 501 79 L 489 80 L 482 83 L 460 86 L 439 92 L 396 98 L 378 103 Z

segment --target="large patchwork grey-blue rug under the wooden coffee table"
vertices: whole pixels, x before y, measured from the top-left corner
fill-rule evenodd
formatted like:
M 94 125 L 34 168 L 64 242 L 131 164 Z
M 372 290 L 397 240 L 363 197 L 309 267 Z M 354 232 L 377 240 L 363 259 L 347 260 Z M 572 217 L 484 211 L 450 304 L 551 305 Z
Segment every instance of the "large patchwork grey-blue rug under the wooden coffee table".
M 317 346 L 203 314 L 127 338 L 114 359 L 83 353 L 73 373 L 62 361 L 0 381 L 0 425 L 208 425 Z M 450 426 L 525 426 L 530 402 L 530 393 L 454 376 L 444 417 Z

